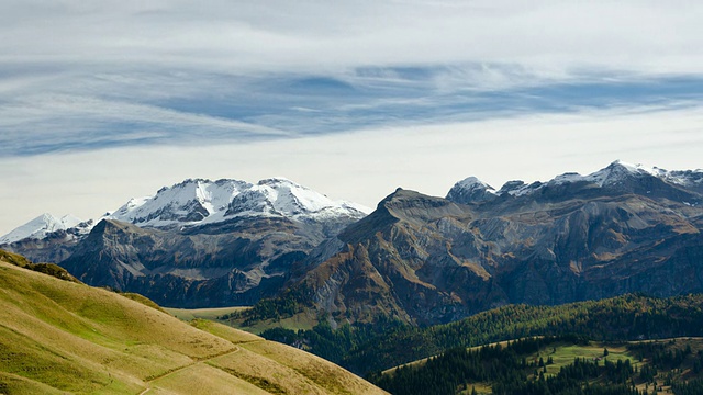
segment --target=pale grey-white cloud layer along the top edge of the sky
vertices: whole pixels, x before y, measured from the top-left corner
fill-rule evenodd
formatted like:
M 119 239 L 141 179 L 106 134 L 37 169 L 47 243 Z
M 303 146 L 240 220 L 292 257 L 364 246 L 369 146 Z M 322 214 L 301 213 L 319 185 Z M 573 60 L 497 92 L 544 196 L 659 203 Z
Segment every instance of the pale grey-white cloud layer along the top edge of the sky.
M 7 59 L 320 70 L 505 63 L 699 71 L 698 1 L 2 3 Z M 700 61 L 698 63 L 700 64 Z

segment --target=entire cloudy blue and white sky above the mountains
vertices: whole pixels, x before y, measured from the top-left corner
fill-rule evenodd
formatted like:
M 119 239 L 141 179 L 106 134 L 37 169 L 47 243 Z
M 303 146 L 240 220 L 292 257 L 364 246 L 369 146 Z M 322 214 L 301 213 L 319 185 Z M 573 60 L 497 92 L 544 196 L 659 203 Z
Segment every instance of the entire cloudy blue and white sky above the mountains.
M 703 168 L 700 1 L 0 0 L 0 235 L 187 178 L 367 206 Z

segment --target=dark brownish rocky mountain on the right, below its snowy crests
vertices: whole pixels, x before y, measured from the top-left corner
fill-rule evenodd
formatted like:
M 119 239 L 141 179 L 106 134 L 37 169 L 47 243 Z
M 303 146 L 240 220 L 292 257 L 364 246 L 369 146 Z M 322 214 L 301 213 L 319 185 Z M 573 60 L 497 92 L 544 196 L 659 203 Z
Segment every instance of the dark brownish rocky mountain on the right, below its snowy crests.
M 420 325 L 509 303 L 703 291 L 701 194 L 615 176 L 477 202 L 459 195 L 467 205 L 398 190 L 339 235 L 336 253 L 309 260 L 299 281 L 337 320 Z

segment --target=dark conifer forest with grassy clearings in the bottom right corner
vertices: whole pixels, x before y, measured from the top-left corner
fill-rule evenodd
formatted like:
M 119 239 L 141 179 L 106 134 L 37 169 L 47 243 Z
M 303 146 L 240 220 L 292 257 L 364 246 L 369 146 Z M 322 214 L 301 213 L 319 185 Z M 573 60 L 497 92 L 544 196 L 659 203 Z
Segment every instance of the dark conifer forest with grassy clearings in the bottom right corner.
M 690 345 L 679 343 L 628 343 L 625 352 L 636 356 L 634 360 L 609 358 L 605 349 L 596 358 L 574 358 L 555 372 L 547 368 L 555 363 L 551 354 L 557 347 L 588 347 L 589 341 L 576 336 L 529 338 L 504 347 L 450 349 L 421 363 L 371 374 L 369 380 L 392 394 L 478 394 L 476 385 L 499 395 L 702 394 L 703 381 L 684 376 L 693 373 L 691 364 L 700 369 L 703 351 L 692 354 Z

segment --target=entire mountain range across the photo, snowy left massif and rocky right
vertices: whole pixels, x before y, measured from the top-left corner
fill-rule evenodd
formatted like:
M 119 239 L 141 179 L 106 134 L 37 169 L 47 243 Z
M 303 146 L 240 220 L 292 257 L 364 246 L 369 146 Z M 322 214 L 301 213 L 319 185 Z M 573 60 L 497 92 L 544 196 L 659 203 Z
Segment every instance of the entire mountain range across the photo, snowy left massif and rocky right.
M 0 242 L 167 306 L 299 290 L 333 323 L 428 325 L 511 303 L 703 291 L 702 170 L 615 161 L 498 190 L 469 177 L 445 198 L 398 189 L 369 212 L 284 179 L 187 180 L 94 224 L 37 221 Z

